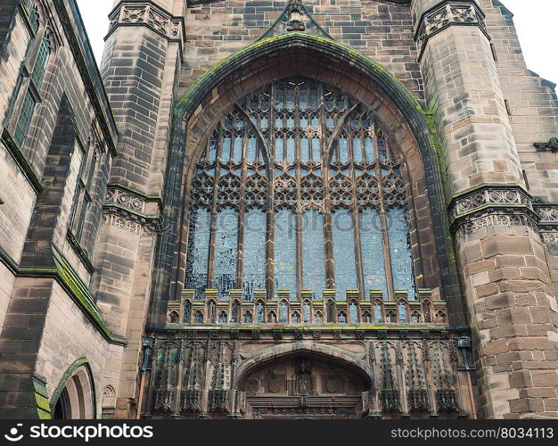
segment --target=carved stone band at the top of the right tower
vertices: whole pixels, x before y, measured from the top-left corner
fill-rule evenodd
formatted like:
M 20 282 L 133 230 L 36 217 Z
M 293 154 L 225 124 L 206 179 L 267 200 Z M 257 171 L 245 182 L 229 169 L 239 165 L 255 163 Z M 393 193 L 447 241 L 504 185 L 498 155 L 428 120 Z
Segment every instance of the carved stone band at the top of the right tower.
M 414 35 L 419 60 L 423 57 L 428 40 L 450 26 L 477 26 L 490 39 L 484 19 L 484 12 L 480 11 L 479 5 L 473 0 L 446 0 L 423 12 L 417 21 Z

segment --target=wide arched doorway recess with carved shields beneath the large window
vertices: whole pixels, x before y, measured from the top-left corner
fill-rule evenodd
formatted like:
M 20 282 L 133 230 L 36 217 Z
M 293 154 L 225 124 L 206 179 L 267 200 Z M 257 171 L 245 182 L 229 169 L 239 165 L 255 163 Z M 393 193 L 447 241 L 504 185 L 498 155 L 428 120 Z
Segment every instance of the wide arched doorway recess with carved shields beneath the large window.
M 357 419 L 369 386 L 361 370 L 303 351 L 250 368 L 239 390 L 249 418 Z

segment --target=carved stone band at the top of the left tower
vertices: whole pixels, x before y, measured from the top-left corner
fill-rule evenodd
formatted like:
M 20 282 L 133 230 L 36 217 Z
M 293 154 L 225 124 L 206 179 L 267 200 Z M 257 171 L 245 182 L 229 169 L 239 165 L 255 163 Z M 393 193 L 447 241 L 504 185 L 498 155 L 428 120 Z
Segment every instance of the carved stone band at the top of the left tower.
M 123 2 L 111 16 L 109 34 L 119 26 L 141 25 L 158 32 L 161 36 L 180 44 L 185 42 L 185 22 L 183 17 L 174 17 L 151 2 Z

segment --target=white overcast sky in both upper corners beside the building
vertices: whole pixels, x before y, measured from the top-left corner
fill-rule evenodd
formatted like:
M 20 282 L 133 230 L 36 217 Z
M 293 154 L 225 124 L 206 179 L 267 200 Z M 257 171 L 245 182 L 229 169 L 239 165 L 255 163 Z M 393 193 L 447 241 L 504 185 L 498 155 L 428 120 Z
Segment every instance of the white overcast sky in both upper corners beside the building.
M 514 14 L 523 54 L 530 70 L 558 84 L 557 0 L 501 0 Z M 97 62 L 114 0 L 78 0 Z

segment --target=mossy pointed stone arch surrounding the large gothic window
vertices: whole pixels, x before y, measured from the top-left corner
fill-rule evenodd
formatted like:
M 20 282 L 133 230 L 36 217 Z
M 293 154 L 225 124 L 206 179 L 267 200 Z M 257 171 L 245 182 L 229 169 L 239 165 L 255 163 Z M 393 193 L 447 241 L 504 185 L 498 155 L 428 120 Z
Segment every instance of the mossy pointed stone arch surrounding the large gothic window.
M 265 70 L 270 71 L 270 67 L 265 63 L 266 57 L 277 53 L 283 57 L 283 59 L 278 60 L 285 63 L 277 66 L 276 72 L 266 74 Z M 334 61 L 332 62 L 333 69 L 332 65 L 328 66 L 327 63 L 308 64 L 308 61 L 307 66 L 302 67 L 304 63 L 289 59 L 292 57 L 291 54 L 312 54 L 313 57 L 323 57 L 324 60 Z M 286 62 L 285 59 L 291 62 Z M 306 73 L 302 73 L 300 70 L 306 70 Z M 291 32 L 283 36 L 265 38 L 229 56 L 201 76 L 176 103 L 175 134 L 171 151 L 174 155 L 169 159 L 168 193 L 165 194 L 166 200 L 168 200 L 167 218 L 173 220 L 174 223 L 171 225 L 172 229 L 161 237 L 158 261 L 165 268 L 160 269 L 161 276 L 158 278 L 156 293 L 162 296 L 166 285 L 165 281 L 161 279 L 168 277 L 171 266 L 173 263 L 176 264 L 177 261 L 173 260 L 172 250 L 169 247 L 176 245 L 178 231 L 176 224 L 182 209 L 182 202 L 179 197 L 173 196 L 170 191 L 177 190 L 187 183 L 187 178 L 185 178 L 186 160 L 184 154 L 181 154 L 184 151 L 185 136 L 188 128 L 208 128 L 210 124 L 208 121 L 210 113 L 205 116 L 203 112 L 196 111 L 204 111 L 211 106 L 220 107 L 221 104 L 226 106 L 226 101 L 230 101 L 231 98 L 219 96 L 216 89 L 219 86 L 229 88 L 238 97 L 245 95 L 258 85 L 262 85 L 261 83 L 266 81 L 266 76 L 286 76 L 297 72 L 307 75 L 311 73 L 316 78 L 323 78 L 324 80 L 329 77 L 330 81 L 333 77 L 340 82 L 341 87 L 353 88 L 353 93 L 368 104 L 373 103 L 374 97 L 382 95 L 384 98 L 389 98 L 388 102 L 393 104 L 390 110 L 397 110 L 400 113 L 400 125 L 410 129 L 418 153 L 420 153 L 420 155 L 414 156 L 419 156 L 427 171 L 424 178 L 426 183 L 425 192 L 429 196 L 432 214 L 436 219 L 433 230 L 439 249 L 440 276 L 441 281 L 444 282 L 442 289 L 447 297 L 457 296 L 458 285 L 455 264 L 451 261 L 453 248 L 448 242 L 450 237 L 447 231 L 447 215 L 436 152 L 437 141 L 427 119 L 429 117 L 428 111 L 424 111 L 421 104 L 406 90 L 406 87 L 377 62 L 373 62 L 364 54 L 328 38 L 317 37 L 304 32 Z M 345 75 L 341 76 L 341 72 Z M 231 73 L 235 73 L 235 76 L 231 77 Z M 259 79 L 259 84 L 255 82 L 256 78 Z M 358 84 L 358 81 L 353 82 L 352 79 L 360 79 L 359 85 L 354 86 L 353 84 Z M 350 82 L 353 82 L 353 84 L 350 84 Z M 228 87 L 225 87 L 226 83 L 229 84 Z M 382 107 L 385 107 L 386 110 L 388 107 L 382 103 L 374 103 L 374 106 L 376 105 L 382 110 L 384 110 Z M 195 117 L 193 116 L 194 112 L 196 112 Z M 188 156 L 190 162 L 196 158 L 195 153 L 189 153 Z M 415 158 L 414 161 L 419 158 Z M 188 171 L 192 171 L 192 169 L 188 169 Z M 177 273 L 176 268 L 175 271 Z M 178 282 L 178 277 L 174 279 L 174 283 L 176 282 Z M 157 299 L 154 302 L 155 305 L 158 304 Z M 452 301 L 450 306 L 455 308 L 454 313 L 462 314 L 464 312 L 462 302 L 458 299 Z

